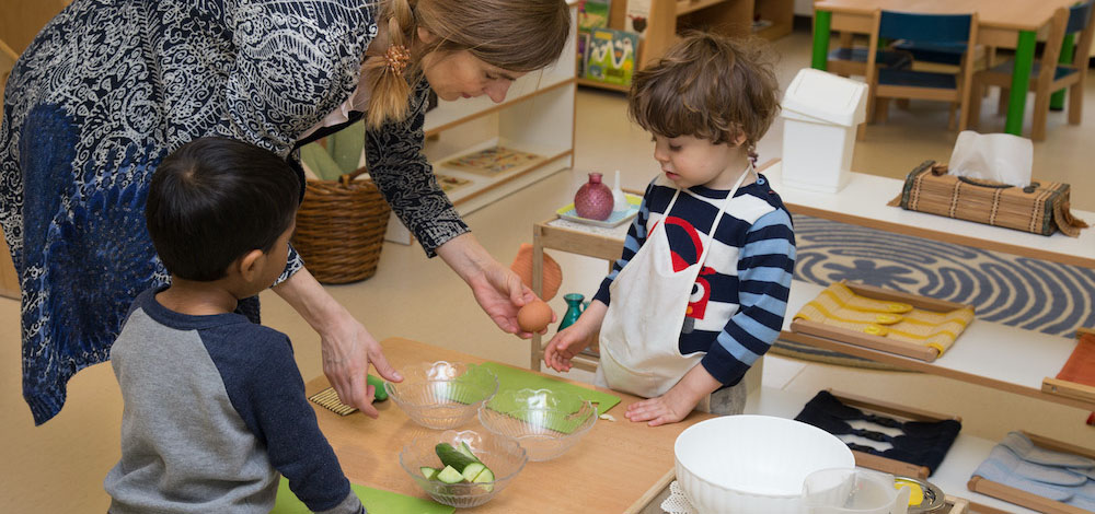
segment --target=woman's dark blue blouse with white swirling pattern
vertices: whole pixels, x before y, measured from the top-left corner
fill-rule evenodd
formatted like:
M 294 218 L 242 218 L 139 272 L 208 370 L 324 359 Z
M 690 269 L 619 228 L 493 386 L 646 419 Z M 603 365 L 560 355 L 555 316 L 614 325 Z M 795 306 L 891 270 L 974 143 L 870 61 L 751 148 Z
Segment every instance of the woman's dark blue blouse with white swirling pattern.
M 372 3 L 76 0 L 20 57 L 0 127 L 0 226 L 36 423 L 60 411 L 77 371 L 110 358 L 132 299 L 169 279 L 143 217 L 160 161 L 214 135 L 296 159 L 298 136 L 357 84 Z M 422 81 L 408 119 L 369 131 L 366 153 L 433 256 L 468 226 L 420 152 L 427 93 Z M 302 266 L 290 253 L 279 281 Z M 257 322 L 257 300 L 241 309 Z

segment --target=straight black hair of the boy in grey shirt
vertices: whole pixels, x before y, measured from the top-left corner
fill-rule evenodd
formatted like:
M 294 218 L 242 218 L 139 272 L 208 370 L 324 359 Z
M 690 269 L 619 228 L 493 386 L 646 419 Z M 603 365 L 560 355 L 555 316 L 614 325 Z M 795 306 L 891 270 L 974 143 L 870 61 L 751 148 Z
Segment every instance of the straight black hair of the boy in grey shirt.
M 145 221 L 173 276 L 210 281 L 247 252 L 269 252 L 297 213 L 300 180 L 273 152 L 200 138 L 168 155 L 148 192 Z

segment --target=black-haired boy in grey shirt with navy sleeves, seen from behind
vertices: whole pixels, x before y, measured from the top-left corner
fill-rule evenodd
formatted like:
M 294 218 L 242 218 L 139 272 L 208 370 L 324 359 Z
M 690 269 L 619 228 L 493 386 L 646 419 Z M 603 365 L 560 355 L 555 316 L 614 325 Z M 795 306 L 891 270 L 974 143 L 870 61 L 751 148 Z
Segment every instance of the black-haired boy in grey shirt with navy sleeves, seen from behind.
M 281 475 L 313 512 L 365 512 L 289 339 L 235 313 L 285 270 L 299 192 L 286 161 L 223 138 L 155 171 L 145 214 L 171 285 L 137 297 L 111 351 L 125 404 L 112 514 L 266 514 Z

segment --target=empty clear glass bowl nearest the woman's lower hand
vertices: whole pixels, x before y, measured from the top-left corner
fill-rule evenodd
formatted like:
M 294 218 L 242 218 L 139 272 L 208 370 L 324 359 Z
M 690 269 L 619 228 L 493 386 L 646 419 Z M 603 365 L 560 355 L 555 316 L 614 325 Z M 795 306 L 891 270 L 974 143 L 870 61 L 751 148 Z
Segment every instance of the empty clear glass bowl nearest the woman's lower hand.
M 424 362 L 400 370 L 403 382 L 384 382 L 388 396 L 416 423 L 437 430 L 466 423 L 498 390 L 498 377 L 483 366 Z

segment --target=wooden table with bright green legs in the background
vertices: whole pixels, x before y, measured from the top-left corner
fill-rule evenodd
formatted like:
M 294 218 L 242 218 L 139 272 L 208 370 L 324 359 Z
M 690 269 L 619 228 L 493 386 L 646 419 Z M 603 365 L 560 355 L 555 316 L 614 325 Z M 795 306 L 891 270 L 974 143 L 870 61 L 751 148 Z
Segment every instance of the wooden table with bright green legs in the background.
M 1035 43 L 1048 30 L 1053 11 L 1076 0 L 818 0 L 814 3 L 814 54 L 811 66 L 826 69 L 830 31 L 871 33 L 872 13 L 885 11 L 923 14 L 977 13 L 977 43 L 1015 49 L 1007 121 L 1004 131 L 1023 135 L 1023 114 L 1030 84 Z

